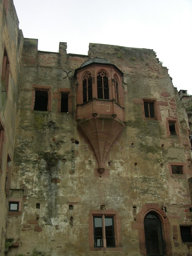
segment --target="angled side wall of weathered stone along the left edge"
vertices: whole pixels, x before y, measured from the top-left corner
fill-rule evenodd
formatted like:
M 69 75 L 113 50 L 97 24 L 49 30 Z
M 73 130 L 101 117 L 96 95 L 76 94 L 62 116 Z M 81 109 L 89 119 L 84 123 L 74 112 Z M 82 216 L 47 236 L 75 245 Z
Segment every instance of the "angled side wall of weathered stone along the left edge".
M 11 161 L 7 164 L 7 155 L 10 157 L 9 160 L 12 160 L 15 133 L 17 81 L 23 44 L 23 36 L 21 30 L 19 30 L 19 20 L 17 18 L 13 1 L 8 1 L 7 8 L 4 6 L 5 3 L 6 1 L 0 1 L 0 122 L 4 129 L 1 138 L 2 148 L 0 148 L 0 157 L 2 158 L 2 161 L 0 161 L 0 255 L 4 255 L 5 249 L 9 203 L 9 186 L 7 186 L 5 191 L 5 176 L 7 176 L 7 185 L 10 185 L 12 168 Z M 7 92 L 4 81 L 2 80 L 4 49 L 6 49 L 9 58 L 9 84 Z

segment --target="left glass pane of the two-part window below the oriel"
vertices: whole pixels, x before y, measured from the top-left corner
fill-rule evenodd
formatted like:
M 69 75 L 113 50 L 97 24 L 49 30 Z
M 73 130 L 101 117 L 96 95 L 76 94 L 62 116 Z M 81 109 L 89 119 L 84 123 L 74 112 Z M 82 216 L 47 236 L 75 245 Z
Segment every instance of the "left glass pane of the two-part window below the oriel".
M 102 217 L 93 217 L 94 247 L 103 247 Z

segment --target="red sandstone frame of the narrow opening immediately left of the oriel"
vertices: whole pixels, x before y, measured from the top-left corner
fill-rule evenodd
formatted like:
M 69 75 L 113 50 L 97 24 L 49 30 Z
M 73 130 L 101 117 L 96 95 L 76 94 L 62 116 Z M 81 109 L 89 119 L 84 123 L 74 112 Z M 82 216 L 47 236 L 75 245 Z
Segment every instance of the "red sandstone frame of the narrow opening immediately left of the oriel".
M 69 88 L 58 88 L 58 92 L 53 93 L 53 99 L 57 99 L 57 112 L 60 114 L 68 114 L 66 112 L 61 112 L 61 94 L 68 94 L 68 113 L 72 113 L 72 92 Z

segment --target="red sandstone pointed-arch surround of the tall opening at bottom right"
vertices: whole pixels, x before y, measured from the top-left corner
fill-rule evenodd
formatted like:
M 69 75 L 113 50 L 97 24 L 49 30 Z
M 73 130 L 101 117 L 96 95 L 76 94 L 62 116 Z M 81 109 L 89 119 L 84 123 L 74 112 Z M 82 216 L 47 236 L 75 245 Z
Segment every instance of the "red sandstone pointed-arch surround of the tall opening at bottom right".
M 164 252 L 165 255 L 172 255 L 172 246 L 170 239 L 170 224 L 167 215 L 161 209 L 159 204 L 146 203 L 141 208 L 140 212 L 137 215 L 136 222 L 133 223 L 132 229 L 137 229 L 139 234 L 139 244 L 140 244 L 140 254 L 147 255 L 146 246 L 145 246 L 145 231 L 144 231 L 144 219 L 148 213 L 155 213 L 161 221 L 162 224 L 162 233 L 165 243 Z

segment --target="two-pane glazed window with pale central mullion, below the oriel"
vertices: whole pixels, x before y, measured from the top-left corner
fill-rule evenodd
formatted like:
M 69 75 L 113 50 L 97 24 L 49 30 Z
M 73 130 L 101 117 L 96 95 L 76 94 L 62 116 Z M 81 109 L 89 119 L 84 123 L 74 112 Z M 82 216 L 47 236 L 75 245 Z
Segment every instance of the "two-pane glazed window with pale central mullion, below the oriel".
M 115 247 L 114 217 L 93 216 L 94 247 Z

